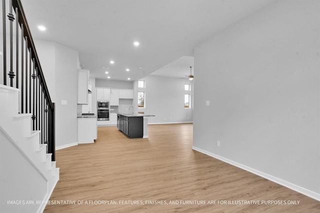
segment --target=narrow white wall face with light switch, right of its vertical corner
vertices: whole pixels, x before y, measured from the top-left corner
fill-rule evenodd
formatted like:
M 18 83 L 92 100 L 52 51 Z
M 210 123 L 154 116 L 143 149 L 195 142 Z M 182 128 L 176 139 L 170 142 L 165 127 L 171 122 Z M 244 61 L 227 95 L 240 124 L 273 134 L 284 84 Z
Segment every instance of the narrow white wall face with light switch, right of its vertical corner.
M 55 45 L 55 146 L 77 142 L 77 51 Z M 66 100 L 67 105 L 61 105 Z

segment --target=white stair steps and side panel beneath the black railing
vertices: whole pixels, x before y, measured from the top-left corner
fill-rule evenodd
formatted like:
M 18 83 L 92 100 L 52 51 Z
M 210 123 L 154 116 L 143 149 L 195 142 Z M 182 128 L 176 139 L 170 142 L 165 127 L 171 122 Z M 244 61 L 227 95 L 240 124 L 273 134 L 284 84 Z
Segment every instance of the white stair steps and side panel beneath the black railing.
M 40 131 L 31 131 L 32 115 L 18 113 L 18 91 L 0 85 L 0 212 L 42 212 L 59 168 L 39 144 Z

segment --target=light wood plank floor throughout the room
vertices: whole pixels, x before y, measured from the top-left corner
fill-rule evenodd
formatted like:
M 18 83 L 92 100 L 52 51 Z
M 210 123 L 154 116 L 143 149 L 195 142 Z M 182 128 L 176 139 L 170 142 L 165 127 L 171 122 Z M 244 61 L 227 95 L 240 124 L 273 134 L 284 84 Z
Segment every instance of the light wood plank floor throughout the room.
M 192 124 L 149 125 L 148 139 L 99 127 L 94 144 L 56 151 L 60 181 L 50 201 L 116 201 L 47 205 L 45 213 L 211 212 L 319 213 L 320 202 L 193 151 Z M 142 201 L 119 204 L 119 201 Z M 299 201 L 298 205 L 169 205 L 169 201 Z M 168 205 L 145 204 L 165 201 Z

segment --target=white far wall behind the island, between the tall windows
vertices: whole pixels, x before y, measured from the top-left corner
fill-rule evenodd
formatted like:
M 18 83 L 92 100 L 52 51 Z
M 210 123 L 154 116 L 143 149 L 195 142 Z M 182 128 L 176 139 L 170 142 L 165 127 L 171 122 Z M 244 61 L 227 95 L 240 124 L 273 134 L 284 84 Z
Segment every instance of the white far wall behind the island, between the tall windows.
M 148 118 L 148 123 L 192 122 L 192 108 L 184 109 L 184 84 L 189 82 L 187 79 L 148 75 L 141 80 L 145 81 L 145 89 L 134 86 L 134 92 L 136 96 L 139 90 L 145 92 L 145 109 L 138 111 L 155 115 Z M 134 100 L 137 105 L 136 97 Z

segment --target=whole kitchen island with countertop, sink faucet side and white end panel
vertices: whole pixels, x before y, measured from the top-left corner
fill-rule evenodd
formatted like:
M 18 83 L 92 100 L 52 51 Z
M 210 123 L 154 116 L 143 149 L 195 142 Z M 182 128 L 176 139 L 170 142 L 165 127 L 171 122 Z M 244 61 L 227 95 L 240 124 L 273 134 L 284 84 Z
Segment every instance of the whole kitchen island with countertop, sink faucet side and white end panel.
M 117 128 L 129 138 L 148 137 L 148 117 L 139 113 L 117 113 Z

